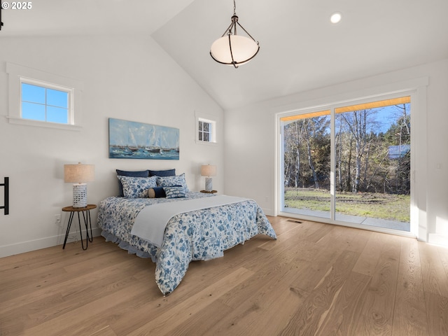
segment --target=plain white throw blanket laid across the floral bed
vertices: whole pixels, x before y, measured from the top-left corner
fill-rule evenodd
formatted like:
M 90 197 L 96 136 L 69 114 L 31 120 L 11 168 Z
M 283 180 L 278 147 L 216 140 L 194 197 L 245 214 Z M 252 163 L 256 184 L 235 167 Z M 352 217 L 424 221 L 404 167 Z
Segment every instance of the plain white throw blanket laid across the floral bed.
M 151 241 L 157 247 L 162 246 L 163 235 L 169 220 L 177 214 L 200 209 L 221 207 L 222 205 L 247 201 L 247 198 L 228 195 L 183 200 L 180 202 L 166 202 L 145 207 L 135 218 L 131 234 L 141 239 Z

